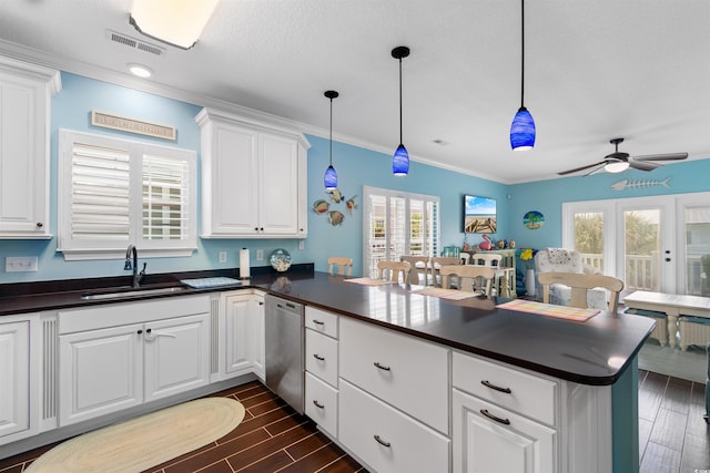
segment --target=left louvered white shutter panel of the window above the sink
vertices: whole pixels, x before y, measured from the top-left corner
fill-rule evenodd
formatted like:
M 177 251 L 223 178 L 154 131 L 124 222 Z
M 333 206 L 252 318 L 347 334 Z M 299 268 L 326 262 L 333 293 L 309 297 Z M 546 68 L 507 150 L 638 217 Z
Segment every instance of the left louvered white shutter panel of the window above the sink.
M 73 143 L 71 160 L 71 238 L 128 241 L 128 151 Z

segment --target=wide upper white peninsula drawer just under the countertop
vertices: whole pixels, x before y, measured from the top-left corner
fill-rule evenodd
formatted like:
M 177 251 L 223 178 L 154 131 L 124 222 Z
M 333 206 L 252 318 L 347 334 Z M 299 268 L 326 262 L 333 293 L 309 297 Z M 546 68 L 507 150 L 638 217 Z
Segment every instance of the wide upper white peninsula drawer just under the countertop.
M 339 376 L 439 432 L 448 432 L 448 349 L 341 318 Z

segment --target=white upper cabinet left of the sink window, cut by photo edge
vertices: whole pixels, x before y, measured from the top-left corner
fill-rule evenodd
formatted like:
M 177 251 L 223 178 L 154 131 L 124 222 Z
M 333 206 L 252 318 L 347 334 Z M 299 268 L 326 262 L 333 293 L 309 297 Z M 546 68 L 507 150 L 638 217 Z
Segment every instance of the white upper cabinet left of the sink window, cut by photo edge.
M 58 71 L 0 56 L 0 238 L 49 234 L 49 131 Z

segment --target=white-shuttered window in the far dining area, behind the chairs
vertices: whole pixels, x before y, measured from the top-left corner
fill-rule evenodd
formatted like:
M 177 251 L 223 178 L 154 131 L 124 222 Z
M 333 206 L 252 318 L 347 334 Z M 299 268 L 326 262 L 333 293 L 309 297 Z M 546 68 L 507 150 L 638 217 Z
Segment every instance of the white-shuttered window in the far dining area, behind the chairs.
M 439 197 L 367 186 L 363 194 L 364 276 L 376 277 L 378 261 L 438 255 Z

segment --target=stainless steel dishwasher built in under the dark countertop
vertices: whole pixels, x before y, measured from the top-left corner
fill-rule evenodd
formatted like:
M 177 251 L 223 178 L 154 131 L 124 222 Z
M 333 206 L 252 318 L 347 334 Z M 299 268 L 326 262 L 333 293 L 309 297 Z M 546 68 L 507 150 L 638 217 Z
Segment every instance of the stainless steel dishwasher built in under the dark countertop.
M 305 397 L 304 308 L 266 295 L 266 387 L 303 414 Z

